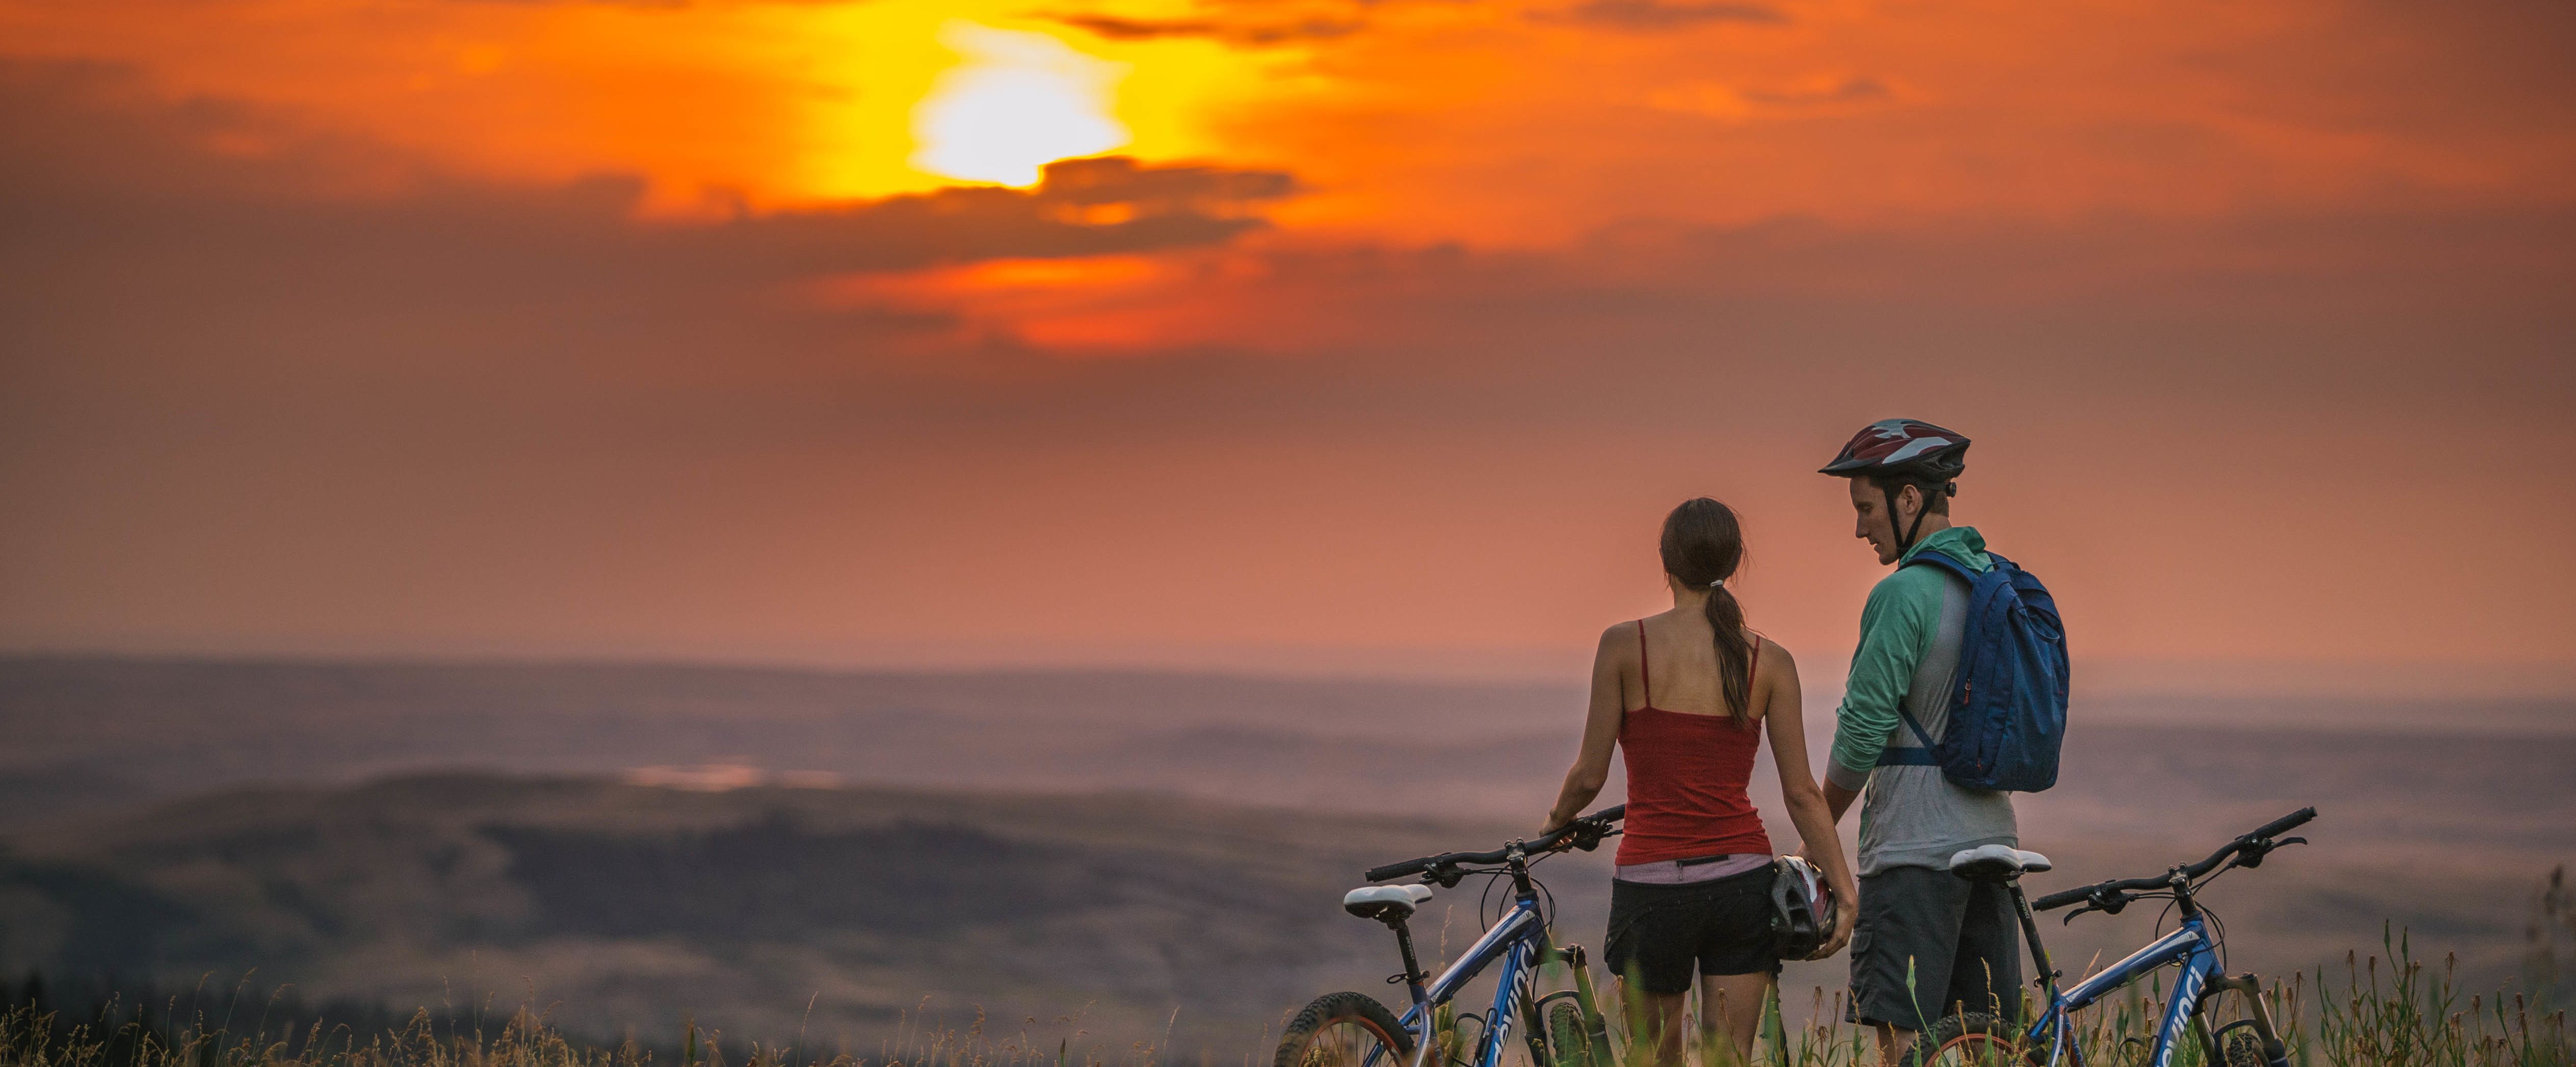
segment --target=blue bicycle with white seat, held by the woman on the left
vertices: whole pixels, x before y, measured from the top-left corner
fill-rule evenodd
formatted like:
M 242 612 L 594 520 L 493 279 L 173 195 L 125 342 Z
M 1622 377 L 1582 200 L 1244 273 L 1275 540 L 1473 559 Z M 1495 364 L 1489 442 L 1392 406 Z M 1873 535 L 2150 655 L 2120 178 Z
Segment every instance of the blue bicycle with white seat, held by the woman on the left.
M 1288 1021 L 1275 1067 L 1425 1067 L 1432 1049 L 1443 1049 L 1440 1067 L 1448 1067 L 1450 1059 L 1471 1067 L 1499 1067 L 1515 1021 L 1522 1026 L 1533 1067 L 1610 1067 L 1610 1033 L 1600 1003 L 1592 997 L 1584 951 L 1582 946 L 1556 946 L 1540 905 L 1546 887 L 1530 879 L 1530 866 L 1569 848 L 1600 848 L 1605 838 L 1618 835 L 1615 822 L 1625 812 L 1628 804 L 1607 807 L 1566 822 L 1546 838 L 1515 840 L 1489 853 L 1422 856 L 1368 871 L 1368 881 L 1422 876 L 1417 884 L 1360 887 L 1342 897 L 1342 910 L 1386 923 L 1396 933 L 1396 948 L 1404 954 L 1399 979 L 1404 979 L 1414 1005 L 1404 1018 L 1396 1018 L 1365 992 L 1327 992 Z M 1440 977 L 1422 974 L 1406 920 L 1432 899 L 1435 884 L 1453 889 L 1458 879 L 1473 874 L 1510 879 L 1512 905 Z M 1448 1005 L 1494 961 L 1502 961 L 1494 1005 L 1481 1015 L 1484 1031 L 1476 1036 L 1473 1057 L 1461 1057 L 1463 1049 L 1450 1049 L 1455 1023 Z M 1574 990 L 1533 997 L 1538 969 L 1546 964 L 1571 966 Z

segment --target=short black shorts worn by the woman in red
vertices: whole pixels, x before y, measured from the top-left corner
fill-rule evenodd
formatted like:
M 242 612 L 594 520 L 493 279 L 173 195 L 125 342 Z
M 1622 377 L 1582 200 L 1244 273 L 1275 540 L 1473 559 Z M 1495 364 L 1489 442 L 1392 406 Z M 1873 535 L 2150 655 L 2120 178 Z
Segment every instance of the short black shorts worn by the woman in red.
M 1690 992 L 1698 974 L 1780 974 L 1770 933 L 1770 863 L 1723 879 L 1610 881 L 1610 974 L 1646 992 Z

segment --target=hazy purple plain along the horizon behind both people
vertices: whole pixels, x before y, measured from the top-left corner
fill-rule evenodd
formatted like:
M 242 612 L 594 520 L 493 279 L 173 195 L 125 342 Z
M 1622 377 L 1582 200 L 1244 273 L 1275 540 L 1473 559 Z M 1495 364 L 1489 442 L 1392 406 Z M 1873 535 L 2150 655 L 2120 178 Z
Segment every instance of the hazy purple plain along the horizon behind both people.
M 0 657 L 0 830 L 227 783 L 453 768 L 688 781 L 706 765 L 732 768 L 708 783 L 1144 789 L 1517 825 L 1553 799 L 1579 716 L 1574 686 Z M 2334 722 L 2360 729 L 2318 727 Z M 1829 729 L 1819 698 L 1819 758 Z M 2406 799 L 2372 832 L 2566 848 L 2571 758 L 2571 701 L 2087 698 L 2063 786 L 2032 812 L 2084 812 L 2061 822 L 2071 832 L 2161 832 L 2257 796 Z

